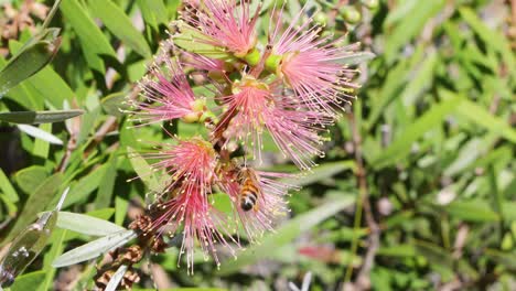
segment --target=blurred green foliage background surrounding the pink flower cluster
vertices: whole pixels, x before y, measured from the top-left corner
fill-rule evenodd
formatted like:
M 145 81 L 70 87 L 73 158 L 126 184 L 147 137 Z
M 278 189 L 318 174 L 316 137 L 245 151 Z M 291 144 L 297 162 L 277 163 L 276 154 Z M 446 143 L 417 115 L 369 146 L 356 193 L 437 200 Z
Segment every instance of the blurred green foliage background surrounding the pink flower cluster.
M 287 1 L 287 0 L 286 0 Z M 288 0 L 295 13 L 304 2 Z M 0 66 L 41 25 L 52 1 L 0 1 Z M 0 111 L 80 108 L 45 123 L 54 138 L 0 122 L 0 239 L 50 209 L 127 226 L 144 205 L 127 147 L 165 139 L 128 129 L 119 111 L 176 17 L 174 0 L 64 0 L 51 26 L 62 46 L 43 71 L 6 93 Z M 264 14 L 272 1 L 265 1 Z M 358 98 L 331 130 L 326 157 L 295 181 L 291 216 L 261 245 L 195 274 L 178 251 L 144 260 L 135 288 L 288 290 L 516 290 L 516 2 L 311 1 L 324 33 L 359 41 L 376 58 L 359 66 Z M 261 28 L 268 23 L 262 21 Z M 265 30 L 264 30 L 265 31 Z M 195 127 L 171 127 L 185 137 Z M 61 143 L 61 144 L 60 144 Z M 266 147 L 273 150 L 273 147 Z M 292 170 L 277 152 L 275 170 Z M 93 238 L 56 229 L 12 290 L 92 288 L 95 263 L 54 269 Z M 222 250 L 223 251 L 223 250 Z M 1 255 L 0 255 L 1 256 Z M 37 289 L 36 289 L 37 287 Z M 29 288 L 29 289 L 26 289 Z M 207 289 L 191 289 L 207 290 Z M 218 289 L 217 289 L 218 290 Z

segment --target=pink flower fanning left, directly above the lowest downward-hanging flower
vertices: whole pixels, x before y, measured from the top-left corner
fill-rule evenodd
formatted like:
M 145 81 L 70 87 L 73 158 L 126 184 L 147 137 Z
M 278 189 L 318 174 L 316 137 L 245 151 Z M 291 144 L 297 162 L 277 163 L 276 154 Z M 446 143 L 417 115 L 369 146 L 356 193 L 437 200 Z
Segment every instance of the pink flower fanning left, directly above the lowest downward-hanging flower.
M 152 169 L 170 175 L 163 193 L 185 185 L 195 186 L 203 195 L 212 192 L 217 155 L 212 144 L 201 138 L 178 140 L 178 144 L 165 143 L 161 151 L 144 154 L 144 158 L 159 160 Z

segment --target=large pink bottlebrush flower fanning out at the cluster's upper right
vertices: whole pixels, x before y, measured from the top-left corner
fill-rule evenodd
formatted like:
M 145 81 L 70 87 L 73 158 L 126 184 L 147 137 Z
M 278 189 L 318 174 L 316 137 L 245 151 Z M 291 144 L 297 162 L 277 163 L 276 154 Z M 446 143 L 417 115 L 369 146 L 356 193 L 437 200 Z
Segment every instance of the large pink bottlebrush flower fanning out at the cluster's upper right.
M 304 9 L 303 9 L 304 10 Z M 304 11 L 281 32 L 283 10 L 269 32 L 270 55 L 266 68 L 276 73 L 311 109 L 335 116 L 342 103 L 354 98 L 353 84 L 343 61 L 354 54 L 355 45 L 340 46 L 331 36 L 320 36 L 320 28 L 311 26 L 312 19 L 297 25 Z

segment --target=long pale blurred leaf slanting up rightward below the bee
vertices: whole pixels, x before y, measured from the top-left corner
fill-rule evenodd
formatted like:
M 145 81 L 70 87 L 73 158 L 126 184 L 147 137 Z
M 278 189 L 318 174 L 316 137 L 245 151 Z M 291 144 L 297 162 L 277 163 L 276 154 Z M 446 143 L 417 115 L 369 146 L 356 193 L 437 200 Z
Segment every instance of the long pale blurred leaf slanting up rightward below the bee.
M 290 244 L 302 233 L 316 226 L 324 219 L 332 217 L 337 212 L 351 206 L 354 203 L 352 195 L 342 195 L 337 201 L 331 201 L 304 213 L 281 226 L 276 234 L 270 234 L 264 238 L 259 245 L 251 246 L 238 256 L 237 260 L 222 263 L 219 274 L 230 274 L 241 270 L 245 266 L 254 265 L 261 259 L 275 258 L 279 256 L 278 250 L 282 246 Z

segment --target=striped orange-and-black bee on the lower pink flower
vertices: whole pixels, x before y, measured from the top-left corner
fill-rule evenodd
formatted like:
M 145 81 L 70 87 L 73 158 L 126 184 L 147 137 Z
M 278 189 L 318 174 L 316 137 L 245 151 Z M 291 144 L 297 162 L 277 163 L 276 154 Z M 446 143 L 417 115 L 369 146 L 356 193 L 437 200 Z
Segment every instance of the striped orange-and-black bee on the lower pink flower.
M 239 201 L 243 211 L 248 212 L 250 209 L 258 212 L 258 200 L 261 198 L 261 187 L 258 182 L 258 175 L 251 169 L 241 169 L 241 183 Z

